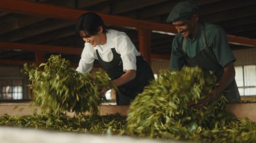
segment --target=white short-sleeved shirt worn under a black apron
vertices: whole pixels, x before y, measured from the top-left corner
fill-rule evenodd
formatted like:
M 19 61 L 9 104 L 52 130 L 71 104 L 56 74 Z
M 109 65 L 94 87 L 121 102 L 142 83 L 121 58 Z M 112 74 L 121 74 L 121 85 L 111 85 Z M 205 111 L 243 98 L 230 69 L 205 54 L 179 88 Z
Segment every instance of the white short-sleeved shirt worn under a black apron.
M 104 45 L 91 46 L 90 43 L 84 43 L 84 49 L 79 61 L 79 67 L 76 71 L 83 74 L 91 71 L 94 60 L 97 59 L 96 50 L 103 61 L 109 62 L 113 59 L 111 48 L 115 48 L 116 52 L 121 55 L 123 61 L 123 71 L 137 69 L 136 56 L 140 56 L 140 52 L 131 42 L 129 36 L 125 32 L 116 30 L 108 30 L 106 32 L 106 43 Z

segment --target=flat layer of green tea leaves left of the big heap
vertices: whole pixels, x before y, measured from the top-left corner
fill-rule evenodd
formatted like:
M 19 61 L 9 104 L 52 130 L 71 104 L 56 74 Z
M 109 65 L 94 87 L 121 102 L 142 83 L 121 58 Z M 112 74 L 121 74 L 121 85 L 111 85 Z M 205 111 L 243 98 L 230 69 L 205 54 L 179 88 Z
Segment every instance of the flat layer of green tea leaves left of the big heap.
M 27 116 L 3 115 L 0 116 L 0 125 L 78 133 L 123 134 L 126 127 L 126 118 L 119 114 L 105 116 L 78 115 L 74 117 L 54 113 Z

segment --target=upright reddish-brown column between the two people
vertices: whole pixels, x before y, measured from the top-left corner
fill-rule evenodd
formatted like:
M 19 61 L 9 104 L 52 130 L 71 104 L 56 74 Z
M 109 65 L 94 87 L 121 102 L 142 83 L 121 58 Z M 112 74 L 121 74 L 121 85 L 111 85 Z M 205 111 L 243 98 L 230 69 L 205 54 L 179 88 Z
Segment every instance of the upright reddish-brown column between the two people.
M 138 28 L 138 42 L 141 56 L 151 65 L 151 30 Z

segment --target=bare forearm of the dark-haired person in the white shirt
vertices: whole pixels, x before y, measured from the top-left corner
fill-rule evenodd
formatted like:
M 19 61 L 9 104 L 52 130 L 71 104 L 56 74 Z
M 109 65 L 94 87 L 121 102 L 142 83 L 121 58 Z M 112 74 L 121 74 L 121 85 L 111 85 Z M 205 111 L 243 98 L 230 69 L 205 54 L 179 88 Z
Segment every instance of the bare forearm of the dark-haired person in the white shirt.
M 113 83 L 115 86 L 121 86 L 124 85 L 127 82 L 130 82 L 131 80 L 133 80 L 136 77 L 136 70 L 131 69 L 131 70 L 127 70 L 125 72 L 125 74 L 123 74 L 122 76 L 120 76 L 120 78 L 118 79 L 114 79 Z

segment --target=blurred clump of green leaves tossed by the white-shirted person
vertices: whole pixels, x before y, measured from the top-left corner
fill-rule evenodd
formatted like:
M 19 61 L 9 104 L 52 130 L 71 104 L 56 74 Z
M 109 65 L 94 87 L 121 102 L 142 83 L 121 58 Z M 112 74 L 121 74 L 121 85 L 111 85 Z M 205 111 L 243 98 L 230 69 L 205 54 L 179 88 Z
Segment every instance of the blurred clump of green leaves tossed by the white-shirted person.
M 98 113 L 98 105 L 104 101 L 99 94 L 113 83 L 105 72 L 80 74 L 70 67 L 70 62 L 61 56 L 52 55 L 47 63 L 24 64 L 23 72 L 29 75 L 34 95 L 34 105 L 46 112 Z

